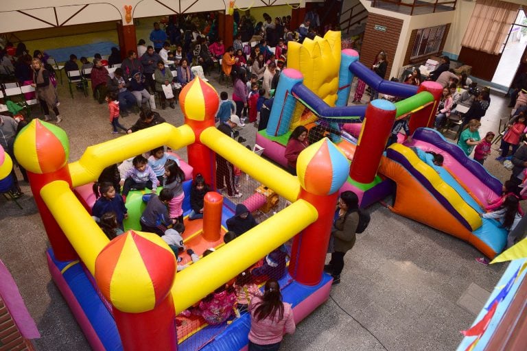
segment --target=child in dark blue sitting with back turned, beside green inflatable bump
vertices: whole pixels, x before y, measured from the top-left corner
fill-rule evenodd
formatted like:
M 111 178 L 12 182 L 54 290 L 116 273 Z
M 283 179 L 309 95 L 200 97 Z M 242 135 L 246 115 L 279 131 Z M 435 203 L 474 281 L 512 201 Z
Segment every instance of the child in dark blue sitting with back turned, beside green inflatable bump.
M 159 196 L 152 195 L 146 208 L 141 215 L 139 222 L 141 223 L 141 231 L 156 233 L 160 237 L 165 234 L 167 226 L 176 223 L 175 219 L 170 219 L 167 204 L 174 197 L 172 190 L 163 189 Z

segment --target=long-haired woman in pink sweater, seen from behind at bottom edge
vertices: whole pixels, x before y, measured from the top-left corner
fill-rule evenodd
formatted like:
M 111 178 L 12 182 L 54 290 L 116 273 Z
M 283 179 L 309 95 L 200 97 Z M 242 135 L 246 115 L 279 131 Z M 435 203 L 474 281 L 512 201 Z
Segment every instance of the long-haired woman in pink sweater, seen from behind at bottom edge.
M 277 351 L 284 334 L 292 334 L 294 325 L 290 304 L 282 302 L 280 285 L 277 280 L 269 279 L 264 295 L 250 300 L 249 351 Z

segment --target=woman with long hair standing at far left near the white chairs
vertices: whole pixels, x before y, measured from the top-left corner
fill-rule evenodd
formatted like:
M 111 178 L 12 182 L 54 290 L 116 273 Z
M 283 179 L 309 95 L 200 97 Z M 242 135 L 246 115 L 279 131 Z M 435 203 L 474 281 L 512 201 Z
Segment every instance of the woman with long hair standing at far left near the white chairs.
M 40 107 L 44 111 L 44 120 L 49 121 L 49 108 L 53 109 L 55 116 L 57 118 L 56 123 L 60 123 L 62 118 L 58 112 L 57 103 L 58 97 L 57 92 L 49 80 L 49 72 L 44 68 L 44 65 L 38 58 L 34 58 L 31 62 L 34 76 L 33 76 L 33 86 L 36 92 L 36 99 L 40 101 Z

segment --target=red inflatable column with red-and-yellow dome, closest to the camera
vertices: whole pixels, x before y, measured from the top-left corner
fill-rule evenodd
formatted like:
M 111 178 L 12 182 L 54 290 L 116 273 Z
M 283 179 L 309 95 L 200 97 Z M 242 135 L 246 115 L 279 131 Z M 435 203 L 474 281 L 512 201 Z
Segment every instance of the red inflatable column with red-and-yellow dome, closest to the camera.
M 110 241 L 97 256 L 95 280 L 113 306 L 123 350 L 178 350 L 170 293 L 176 265 L 163 239 L 132 230 Z

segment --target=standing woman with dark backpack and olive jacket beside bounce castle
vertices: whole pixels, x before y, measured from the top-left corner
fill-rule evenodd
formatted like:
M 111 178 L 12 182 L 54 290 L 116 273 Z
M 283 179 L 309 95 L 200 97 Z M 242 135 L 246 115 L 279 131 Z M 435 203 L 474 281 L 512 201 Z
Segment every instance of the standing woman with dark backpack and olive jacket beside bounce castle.
M 333 285 L 340 283 L 340 272 L 344 268 L 344 255 L 355 245 L 355 230 L 359 225 L 359 198 L 353 191 L 340 194 L 337 203 L 338 217 L 331 230 L 331 261 L 324 266 L 324 271 L 333 276 Z M 333 247 L 331 247 L 333 246 Z

